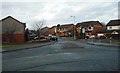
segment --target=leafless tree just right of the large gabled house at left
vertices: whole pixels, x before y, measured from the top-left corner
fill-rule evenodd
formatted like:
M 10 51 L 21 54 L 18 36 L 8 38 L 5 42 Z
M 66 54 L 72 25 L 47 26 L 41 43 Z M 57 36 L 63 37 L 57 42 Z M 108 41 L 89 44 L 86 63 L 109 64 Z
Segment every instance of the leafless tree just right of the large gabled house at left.
M 45 25 L 45 20 L 38 21 L 34 24 L 34 29 L 37 31 L 38 40 L 40 40 L 41 28 Z

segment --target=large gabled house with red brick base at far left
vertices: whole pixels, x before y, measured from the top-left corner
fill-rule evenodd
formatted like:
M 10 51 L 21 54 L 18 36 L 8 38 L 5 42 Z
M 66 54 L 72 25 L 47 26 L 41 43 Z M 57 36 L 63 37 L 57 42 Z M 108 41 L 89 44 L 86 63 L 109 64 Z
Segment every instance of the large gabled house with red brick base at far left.
M 26 24 L 8 16 L 0 20 L 2 25 L 2 43 L 25 42 Z

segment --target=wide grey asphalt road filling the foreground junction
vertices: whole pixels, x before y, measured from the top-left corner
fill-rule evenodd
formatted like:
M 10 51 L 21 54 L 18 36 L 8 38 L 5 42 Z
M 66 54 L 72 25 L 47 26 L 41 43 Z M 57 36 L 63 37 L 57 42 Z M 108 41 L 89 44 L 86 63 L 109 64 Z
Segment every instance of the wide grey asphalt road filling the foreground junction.
M 52 45 L 2 54 L 3 71 L 117 71 L 118 48 L 60 38 Z

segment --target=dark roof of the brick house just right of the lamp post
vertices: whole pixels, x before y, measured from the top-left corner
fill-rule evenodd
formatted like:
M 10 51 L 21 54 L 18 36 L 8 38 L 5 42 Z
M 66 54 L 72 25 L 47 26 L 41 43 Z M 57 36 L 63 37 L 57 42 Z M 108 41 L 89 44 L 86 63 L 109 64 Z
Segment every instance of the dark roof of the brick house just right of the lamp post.
M 95 24 L 100 24 L 101 26 L 103 26 L 103 24 L 101 24 L 99 21 L 86 21 L 86 22 L 82 22 L 82 23 L 77 23 L 76 27 L 88 27 L 88 26 L 93 26 Z

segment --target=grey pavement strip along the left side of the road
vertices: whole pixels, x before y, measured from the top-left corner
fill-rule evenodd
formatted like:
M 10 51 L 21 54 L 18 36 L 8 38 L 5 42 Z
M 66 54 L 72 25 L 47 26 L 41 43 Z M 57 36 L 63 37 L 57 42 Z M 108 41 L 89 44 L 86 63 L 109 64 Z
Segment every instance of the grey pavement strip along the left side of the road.
M 55 43 L 54 41 L 51 41 L 51 42 L 34 43 L 34 44 L 27 44 L 27 45 L 17 45 L 15 47 L 11 47 L 11 48 L 0 49 L 0 52 L 5 53 L 5 52 L 25 50 L 25 49 L 32 49 L 32 48 L 38 48 L 38 47 L 42 47 L 42 46 L 51 45 L 54 43 Z

